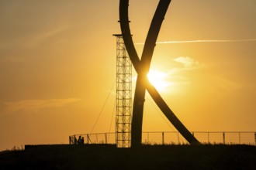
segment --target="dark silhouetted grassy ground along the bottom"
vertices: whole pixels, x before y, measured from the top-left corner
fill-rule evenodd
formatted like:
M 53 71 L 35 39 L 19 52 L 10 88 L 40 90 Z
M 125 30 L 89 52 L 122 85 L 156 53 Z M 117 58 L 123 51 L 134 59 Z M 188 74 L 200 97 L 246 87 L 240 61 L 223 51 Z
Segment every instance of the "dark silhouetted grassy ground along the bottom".
M 256 147 L 38 145 L 0 152 L 0 169 L 256 169 Z

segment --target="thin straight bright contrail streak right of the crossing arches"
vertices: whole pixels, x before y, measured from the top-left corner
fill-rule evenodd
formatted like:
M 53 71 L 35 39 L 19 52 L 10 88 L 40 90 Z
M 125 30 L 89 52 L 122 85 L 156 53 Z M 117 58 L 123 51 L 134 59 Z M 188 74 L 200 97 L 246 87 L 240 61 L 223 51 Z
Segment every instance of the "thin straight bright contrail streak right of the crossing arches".
M 184 41 L 162 41 L 157 44 L 195 43 L 195 42 L 254 42 L 256 39 L 205 39 L 205 40 L 184 40 Z M 144 45 L 144 43 L 136 43 Z

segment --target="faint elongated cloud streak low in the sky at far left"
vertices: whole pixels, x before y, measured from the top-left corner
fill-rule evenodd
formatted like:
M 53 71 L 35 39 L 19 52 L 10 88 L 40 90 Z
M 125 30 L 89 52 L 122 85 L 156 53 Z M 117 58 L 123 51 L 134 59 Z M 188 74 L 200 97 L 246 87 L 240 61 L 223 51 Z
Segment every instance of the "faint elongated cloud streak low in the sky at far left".
M 81 99 L 47 99 L 47 100 L 20 100 L 17 102 L 5 102 L 5 110 L 9 113 L 14 113 L 19 110 L 38 111 L 51 107 L 63 107 L 66 104 L 78 102 Z

